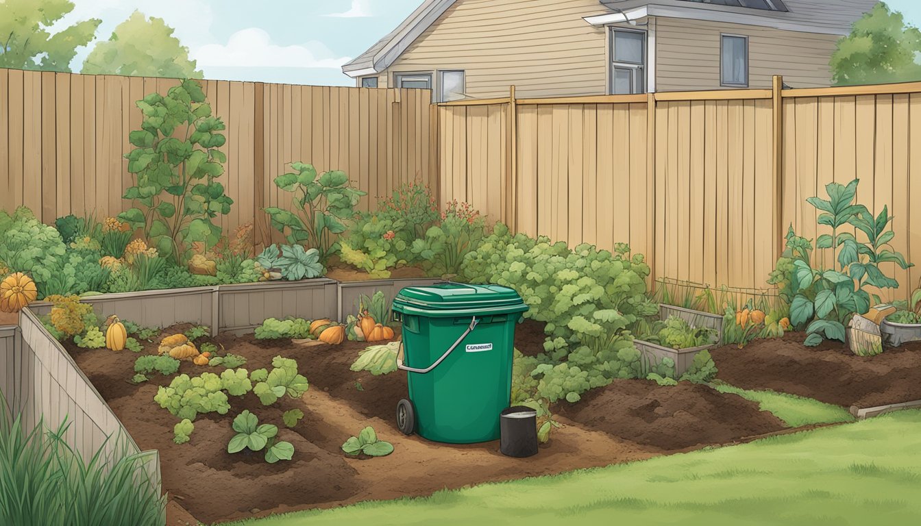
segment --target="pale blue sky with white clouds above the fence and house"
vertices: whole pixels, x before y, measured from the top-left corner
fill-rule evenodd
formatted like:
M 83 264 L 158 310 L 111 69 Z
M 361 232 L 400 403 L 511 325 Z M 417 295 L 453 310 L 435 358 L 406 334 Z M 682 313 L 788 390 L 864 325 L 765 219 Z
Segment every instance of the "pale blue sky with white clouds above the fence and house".
M 422 0 L 72 0 L 73 12 L 55 27 L 100 18 L 97 36 L 135 9 L 163 18 L 189 47 L 205 78 L 288 84 L 353 86 L 340 66 L 394 29 Z M 921 27 L 921 2 L 889 0 Z M 53 31 L 54 27 L 52 27 Z M 91 43 L 90 46 L 93 44 Z M 83 48 L 74 71 L 89 53 Z

